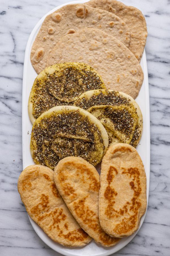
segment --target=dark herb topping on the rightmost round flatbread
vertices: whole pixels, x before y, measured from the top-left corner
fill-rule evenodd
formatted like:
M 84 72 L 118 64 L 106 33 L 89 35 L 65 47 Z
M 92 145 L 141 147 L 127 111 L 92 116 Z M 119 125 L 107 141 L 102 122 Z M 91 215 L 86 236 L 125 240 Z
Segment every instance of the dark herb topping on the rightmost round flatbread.
M 136 109 L 133 107 L 133 104 L 131 104 L 129 101 L 121 96 L 119 92 L 108 91 L 104 94 L 101 91 L 101 93 L 97 95 L 94 94 L 90 99 L 86 99 L 85 97 L 78 99 L 75 102 L 75 106 L 88 110 L 93 106 L 109 105 L 107 108 L 105 108 L 104 115 L 112 121 L 115 129 L 124 133 L 127 138 L 129 138 L 133 133 L 130 145 L 136 147 L 137 141 L 141 135 L 141 131 L 138 125 L 136 125 L 134 130 L 134 124 L 138 118 L 138 115 Z M 113 108 L 111 108 L 111 106 L 113 106 Z M 114 106 L 120 108 L 114 110 Z M 100 120 L 100 116 L 97 118 Z M 104 123 L 103 125 L 105 126 Z M 109 143 L 110 142 L 111 138 L 109 138 Z

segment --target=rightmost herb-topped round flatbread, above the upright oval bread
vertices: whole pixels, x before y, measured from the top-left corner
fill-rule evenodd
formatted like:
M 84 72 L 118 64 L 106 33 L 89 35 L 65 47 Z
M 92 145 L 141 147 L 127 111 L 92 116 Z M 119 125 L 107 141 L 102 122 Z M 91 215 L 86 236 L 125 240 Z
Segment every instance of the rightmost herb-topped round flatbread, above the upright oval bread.
M 109 145 L 127 143 L 137 146 L 142 134 L 143 119 L 139 105 L 128 94 L 113 90 L 90 90 L 75 101 L 97 117 L 109 136 Z

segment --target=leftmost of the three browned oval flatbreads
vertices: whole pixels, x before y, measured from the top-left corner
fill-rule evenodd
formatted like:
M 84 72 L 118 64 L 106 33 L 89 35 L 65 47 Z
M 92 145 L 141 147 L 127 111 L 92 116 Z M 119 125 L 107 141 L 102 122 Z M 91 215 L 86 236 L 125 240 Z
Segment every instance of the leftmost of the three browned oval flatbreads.
M 42 165 L 30 165 L 18 179 L 18 192 L 29 216 L 55 242 L 84 246 L 92 238 L 80 228 L 59 195 L 54 172 Z

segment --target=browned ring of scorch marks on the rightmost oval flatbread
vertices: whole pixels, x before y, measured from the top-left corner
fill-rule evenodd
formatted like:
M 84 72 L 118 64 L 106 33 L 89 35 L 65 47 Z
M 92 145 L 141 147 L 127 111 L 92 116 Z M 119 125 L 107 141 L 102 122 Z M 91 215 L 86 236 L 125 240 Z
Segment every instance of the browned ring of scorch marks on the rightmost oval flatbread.
M 115 219 L 119 218 L 120 215 L 123 216 L 125 213 L 129 213 L 129 217 L 124 217 L 122 221 L 118 221 L 118 224 L 115 226 L 114 231 L 118 234 L 127 233 L 135 227 L 139 215 L 139 208 L 141 207 L 141 202 L 138 199 L 142 190 L 139 178 L 140 172 L 138 168 L 128 168 L 127 170 L 124 169 L 122 171 L 122 174 L 126 174 L 127 176 L 133 179 L 132 181 L 129 182 L 131 189 L 133 189 L 134 191 L 131 202 L 126 202 L 126 204 L 119 210 L 114 209 L 114 203 L 117 192 L 114 190 L 114 188 L 110 186 L 112 180 L 111 170 L 110 173 L 108 172 L 107 181 L 109 185 L 107 186 L 104 194 L 105 198 L 109 201 L 107 208 L 105 210 L 106 216 Z

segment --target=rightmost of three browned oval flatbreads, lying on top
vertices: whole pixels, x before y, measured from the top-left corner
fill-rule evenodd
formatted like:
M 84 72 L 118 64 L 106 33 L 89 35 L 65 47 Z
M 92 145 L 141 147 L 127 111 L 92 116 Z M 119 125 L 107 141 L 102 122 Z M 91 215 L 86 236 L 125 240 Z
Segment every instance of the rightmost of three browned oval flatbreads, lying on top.
M 133 234 L 146 211 L 146 174 L 136 149 L 111 145 L 103 157 L 100 174 L 99 220 L 110 236 Z

